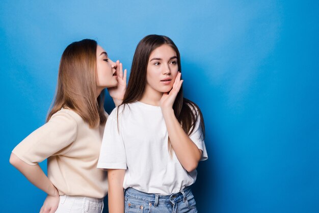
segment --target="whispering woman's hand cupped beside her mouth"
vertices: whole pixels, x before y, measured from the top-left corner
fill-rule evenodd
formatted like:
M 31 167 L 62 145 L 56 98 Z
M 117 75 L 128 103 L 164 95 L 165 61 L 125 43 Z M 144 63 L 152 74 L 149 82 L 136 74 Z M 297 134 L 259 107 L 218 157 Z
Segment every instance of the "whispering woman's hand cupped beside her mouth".
M 123 73 L 123 65 L 119 60 L 116 61 L 116 76 L 117 86 L 108 88 L 108 91 L 117 107 L 122 103 L 126 91 L 126 69 Z

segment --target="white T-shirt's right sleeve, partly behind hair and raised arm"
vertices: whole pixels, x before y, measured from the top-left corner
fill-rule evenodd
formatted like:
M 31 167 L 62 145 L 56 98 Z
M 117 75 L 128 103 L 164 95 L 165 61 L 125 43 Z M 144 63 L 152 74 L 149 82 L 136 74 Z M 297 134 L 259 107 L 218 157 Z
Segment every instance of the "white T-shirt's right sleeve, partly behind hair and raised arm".
M 193 110 L 193 112 L 198 114 L 197 110 Z M 200 150 L 202 150 L 202 157 L 200 160 L 205 161 L 208 158 L 208 156 L 207 156 L 205 142 L 202 137 L 202 131 L 200 128 L 200 116 L 197 117 L 197 121 L 196 121 L 194 130 L 192 134 L 190 135 L 190 139 L 196 144 L 196 146 Z

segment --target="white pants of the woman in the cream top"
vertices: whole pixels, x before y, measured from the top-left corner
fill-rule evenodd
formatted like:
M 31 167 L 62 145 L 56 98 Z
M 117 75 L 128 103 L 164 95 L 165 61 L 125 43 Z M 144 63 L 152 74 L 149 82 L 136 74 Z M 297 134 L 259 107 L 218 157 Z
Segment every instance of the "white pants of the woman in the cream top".
M 103 206 L 101 198 L 61 195 L 56 213 L 101 213 Z

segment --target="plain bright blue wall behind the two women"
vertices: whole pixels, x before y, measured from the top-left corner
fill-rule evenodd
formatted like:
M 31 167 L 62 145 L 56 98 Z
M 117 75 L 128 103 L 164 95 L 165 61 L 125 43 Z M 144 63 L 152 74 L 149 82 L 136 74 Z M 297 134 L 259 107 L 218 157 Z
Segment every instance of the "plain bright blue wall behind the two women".
M 137 43 L 161 34 L 205 119 L 199 212 L 319 212 L 318 20 L 307 0 L 2 0 L 0 211 L 37 212 L 45 199 L 9 156 L 44 123 L 65 47 L 96 39 L 129 71 Z

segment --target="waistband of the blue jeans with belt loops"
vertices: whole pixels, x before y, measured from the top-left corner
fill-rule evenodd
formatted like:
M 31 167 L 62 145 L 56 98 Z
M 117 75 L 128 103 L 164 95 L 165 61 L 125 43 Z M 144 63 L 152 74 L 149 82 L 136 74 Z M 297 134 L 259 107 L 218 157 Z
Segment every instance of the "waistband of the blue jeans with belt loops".
M 185 187 L 180 192 L 171 195 L 156 195 L 148 194 L 145 192 L 140 192 L 133 188 L 127 188 L 125 190 L 125 196 L 132 197 L 138 200 L 143 200 L 147 202 L 155 203 L 176 203 L 180 200 L 185 200 L 188 196 L 192 194 L 191 187 Z

